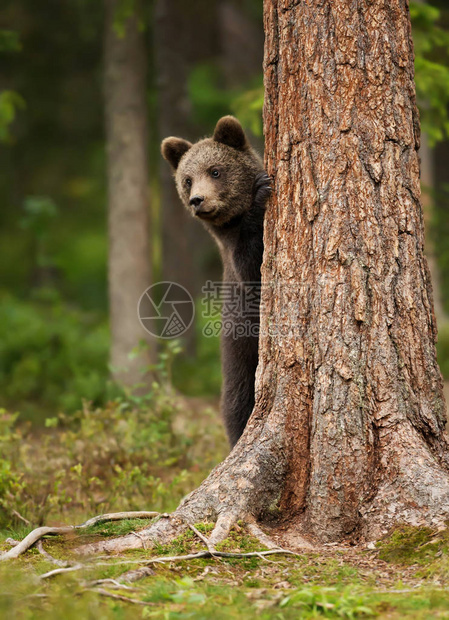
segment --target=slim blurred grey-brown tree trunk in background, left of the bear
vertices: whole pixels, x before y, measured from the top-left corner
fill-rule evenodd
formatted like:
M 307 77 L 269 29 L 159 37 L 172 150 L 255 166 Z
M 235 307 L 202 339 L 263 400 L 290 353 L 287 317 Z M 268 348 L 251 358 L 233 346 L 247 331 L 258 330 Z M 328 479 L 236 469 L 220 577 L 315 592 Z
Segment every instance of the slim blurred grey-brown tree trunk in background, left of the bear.
M 114 379 L 133 386 L 152 358 L 152 342 L 137 319 L 151 283 L 146 61 L 138 18 L 115 26 L 120 0 L 105 1 L 104 90 L 108 150 L 110 363 Z M 141 340 L 148 349 L 130 358 Z

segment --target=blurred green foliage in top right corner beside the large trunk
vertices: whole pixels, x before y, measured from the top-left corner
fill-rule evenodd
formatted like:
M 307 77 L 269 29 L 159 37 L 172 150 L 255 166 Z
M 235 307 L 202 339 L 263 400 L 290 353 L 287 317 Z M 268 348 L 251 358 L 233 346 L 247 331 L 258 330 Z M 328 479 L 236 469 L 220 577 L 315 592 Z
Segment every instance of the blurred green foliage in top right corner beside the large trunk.
M 429 4 L 410 3 L 410 16 L 421 126 L 433 145 L 449 136 L 449 32 L 438 25 L 439 9 Z

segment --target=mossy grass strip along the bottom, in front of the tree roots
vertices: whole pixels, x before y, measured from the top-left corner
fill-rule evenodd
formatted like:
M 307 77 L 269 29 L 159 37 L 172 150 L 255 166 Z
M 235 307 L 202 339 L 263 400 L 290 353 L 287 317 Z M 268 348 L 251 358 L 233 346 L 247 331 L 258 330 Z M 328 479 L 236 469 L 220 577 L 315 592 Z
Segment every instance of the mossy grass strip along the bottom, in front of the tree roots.
M 69 540 L 48 538 L 44 547 L 53 557 L 74 563 L 75 546 L 138 531 L 148 523 L 101 524 Z M 207 535 L 213 526 L 198 527 Z M 21 537 L 26 533 L 26 528 L 17 532 Z M 242 553 L 262 549 L 239 527 L 218 548 Z M 80 571 L 39 581 L 55 566 L 31 549 L 0 565 L 0 615 L 4 620 L 449 618 L 449 532 L 428 528 L 399 528 L 374 550 L 325 547 L 265 559 L 202 558 L 151 565 L 151 574 L 130 589 L 118 590 L 110 583 L 97 586 L 103 589 L 98 593 L 88 585 L 97 579 L 119 580 L 151 557 L 200 550 L 203 543 L 188 531 L 169 545 L 103 556 L 98 566 L 95 560 Z M 108 598 L 104 591 L 133 602 Z

